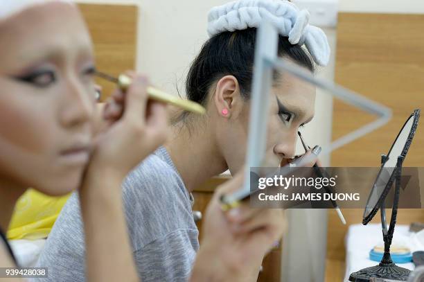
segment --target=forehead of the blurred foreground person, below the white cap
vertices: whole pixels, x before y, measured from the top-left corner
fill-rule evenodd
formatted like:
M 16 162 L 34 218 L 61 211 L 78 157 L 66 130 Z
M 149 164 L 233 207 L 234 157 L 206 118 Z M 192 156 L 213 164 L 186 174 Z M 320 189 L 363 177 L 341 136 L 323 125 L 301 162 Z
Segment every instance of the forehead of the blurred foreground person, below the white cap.
M 78 8 L 61 2 L 33 6 L 0 21 L 3 63 L 36 60 L 46 53 L 91 53 L 91 39 Z

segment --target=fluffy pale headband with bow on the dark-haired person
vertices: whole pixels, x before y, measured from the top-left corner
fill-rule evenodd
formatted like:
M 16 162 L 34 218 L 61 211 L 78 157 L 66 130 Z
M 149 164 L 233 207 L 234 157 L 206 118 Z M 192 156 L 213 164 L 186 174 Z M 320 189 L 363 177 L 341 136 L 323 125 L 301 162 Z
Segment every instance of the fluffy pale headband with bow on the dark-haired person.
M 321 66 L 330 60 L 330 45 L 321 28 L 309 24 L 310 14 L 285 0 L 238 0 L 214 7 L 208 15 L 211 37 L 224 31 L 257 28 L 262 19 L 271 21 L 291 44 L 305 44 Z

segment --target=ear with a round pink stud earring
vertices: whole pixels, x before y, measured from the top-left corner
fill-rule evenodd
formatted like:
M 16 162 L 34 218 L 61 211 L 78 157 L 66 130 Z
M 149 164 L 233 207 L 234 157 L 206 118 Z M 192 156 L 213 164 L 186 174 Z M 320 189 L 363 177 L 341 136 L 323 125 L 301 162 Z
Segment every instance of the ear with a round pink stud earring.
M 234 76 L 221 78 L 216 85 L 213 100 L 219 116 L 229 118 L 231 115 L 237 114 L 242 105 L 237 78 Z M 225 112 L 227 114 L 224 114 Z

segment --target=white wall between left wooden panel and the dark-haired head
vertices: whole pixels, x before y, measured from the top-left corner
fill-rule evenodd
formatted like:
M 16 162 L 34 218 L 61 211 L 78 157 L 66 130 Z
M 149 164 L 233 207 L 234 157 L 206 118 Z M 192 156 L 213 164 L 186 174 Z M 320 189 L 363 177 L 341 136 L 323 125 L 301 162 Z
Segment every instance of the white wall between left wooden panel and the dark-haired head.
M 136 69 L 171 94 L 184 85 L 190 62 L 207 39 L 206 14 L 226 0 L 80 0 L 139 6 Z M 184 94 L 184 89 L 181 89 Z

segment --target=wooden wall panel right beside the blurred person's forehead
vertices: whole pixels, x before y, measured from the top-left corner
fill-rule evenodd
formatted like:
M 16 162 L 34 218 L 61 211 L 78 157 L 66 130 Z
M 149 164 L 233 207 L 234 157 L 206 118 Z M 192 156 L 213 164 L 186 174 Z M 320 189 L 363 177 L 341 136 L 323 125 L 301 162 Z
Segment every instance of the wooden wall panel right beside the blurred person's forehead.
M 120 5 L 78 5 L 94 42 L 96 66 L 99 71 L 118 76 L 135 69 L 138 8 Z M 114 85 L 97 80 L 103 87 L 103 99 Z

